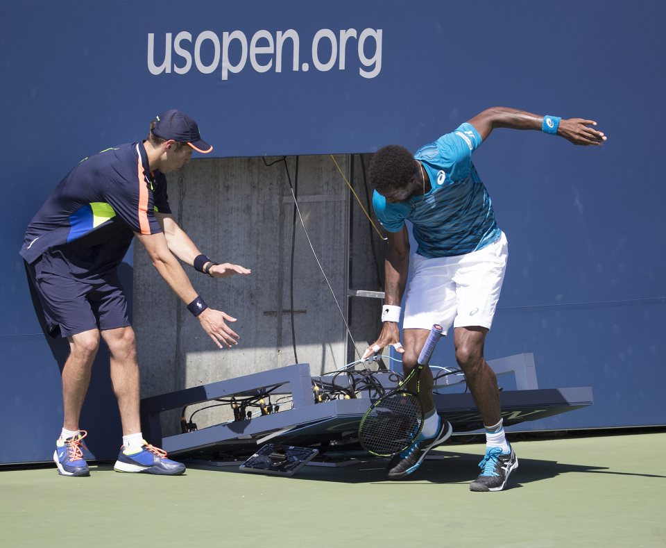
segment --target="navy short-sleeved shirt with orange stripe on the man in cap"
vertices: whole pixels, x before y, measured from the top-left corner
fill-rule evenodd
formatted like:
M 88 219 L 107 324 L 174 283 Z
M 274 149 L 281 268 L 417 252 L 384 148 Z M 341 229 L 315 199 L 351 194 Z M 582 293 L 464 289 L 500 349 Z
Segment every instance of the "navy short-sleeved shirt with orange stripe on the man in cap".
M 171 213 L 167 178 L 151 172 L 142 143 L 121 144 L 81 160 L 28 225 L 20 254 L 42 258 L 44 272 L 87 277 L 121 263 L 134 233 L 162 227 Z

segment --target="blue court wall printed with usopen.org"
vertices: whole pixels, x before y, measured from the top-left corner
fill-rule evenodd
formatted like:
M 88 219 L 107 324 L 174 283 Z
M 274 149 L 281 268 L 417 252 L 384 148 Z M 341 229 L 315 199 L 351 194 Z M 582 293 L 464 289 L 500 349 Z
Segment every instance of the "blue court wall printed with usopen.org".
M 173 106 L 198 120 L 221 157 L 416 149 L 493 105 L 596 119 L 609 136 L 599 149 L 498 130 L 475 154 L 511 254 L 486 354 L 531 351 L 543 388 L 593 387 L 595 406 L 539 427 L 666 423 L 663 3 L 423 0 L 402 13 L 379 0 L 194 6 L 3 3 L 1 432 L 27 432 L 33 445 L 21 455 L 1 449 L 0 462 L 48 459 L 42 440 L 62 420 L 58 367 L 17 254 L 24 229 L 80 158 L 144 137 Z M 348 33 L 344 69 L 340 29 L 357 37 Z M 167 33 L 171 72 L 153 74 Z M 229 69 L 221 60 L 241 66 L 242 38 L 245 65 Z M 88 413 L 116 424 L 104 374 L 93 387 L 103 404 Z

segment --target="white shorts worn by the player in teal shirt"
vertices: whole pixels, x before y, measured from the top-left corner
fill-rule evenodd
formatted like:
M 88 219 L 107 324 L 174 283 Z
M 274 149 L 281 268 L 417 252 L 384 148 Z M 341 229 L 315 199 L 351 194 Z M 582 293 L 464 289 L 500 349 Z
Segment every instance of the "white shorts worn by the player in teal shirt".
M 402 329 L 440 324 L 444 335 L 451 324 L 490 329 L 508 256 L 504 233 L 484 249 L 465 255 L 428 259 L 414 254 Z

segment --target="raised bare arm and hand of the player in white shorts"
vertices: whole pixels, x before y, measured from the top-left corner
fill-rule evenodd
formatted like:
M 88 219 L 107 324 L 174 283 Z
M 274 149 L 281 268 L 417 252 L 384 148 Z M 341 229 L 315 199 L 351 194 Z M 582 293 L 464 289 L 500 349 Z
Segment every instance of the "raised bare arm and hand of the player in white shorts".
M 541 131 L 543 116 L 528 113 L 517 108 L 495 106 L 477 114 L 468 122 L 474 126 L 485 141 L 495 128 L 533 129 Z M 595 129 L 597 122 L 584 118 L 561 119 L 557 135 L 573 144 L 599 145 L 606 140 L 606 135 Z M 592 127 L 590 127 L 592 126 Z

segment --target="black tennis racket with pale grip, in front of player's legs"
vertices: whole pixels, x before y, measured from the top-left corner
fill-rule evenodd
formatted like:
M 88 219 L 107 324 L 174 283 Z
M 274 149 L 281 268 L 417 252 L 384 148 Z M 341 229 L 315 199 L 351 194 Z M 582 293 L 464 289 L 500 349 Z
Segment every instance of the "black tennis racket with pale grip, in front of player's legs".
M 375 401 L 361 418 L 359 441 L 366 451 L 390 457 L 407 449 L 421 433 L 425 418 L 418 399 L 421 371 L 428 365 L 442 331 L 442 326 L 432 326 L 416 367 L 402 383 Z M 407 390 L 414 376 L 417 379 L 416 393 Z

